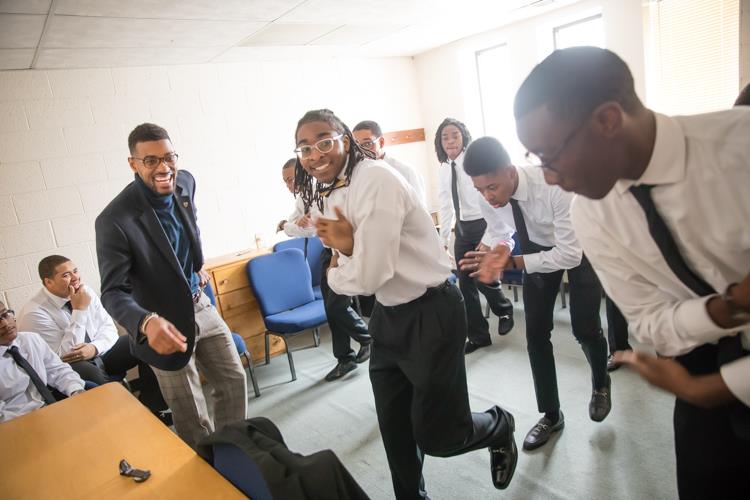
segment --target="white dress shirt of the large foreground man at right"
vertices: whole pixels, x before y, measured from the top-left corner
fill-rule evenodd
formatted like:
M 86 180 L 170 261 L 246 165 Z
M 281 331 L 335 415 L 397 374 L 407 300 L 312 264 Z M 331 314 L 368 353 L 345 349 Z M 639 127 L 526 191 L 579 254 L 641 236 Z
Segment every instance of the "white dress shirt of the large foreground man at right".
M 745 108 L 741 106 L 740 108 Z M 601 200 L 579 196 L 573 227 L 607 294 L 636 339 L 665 356 L 687 353 L 741 328 L 723 329 L 669 269 L 632 185 L 652 184 L 654 204 L 688 266 L 717 291 L 750 271 L 750 109 L 696 116 L 656 114 L 651 160 L 637 181 Z M 742 344 L 750 348 L 750 327 Z M 750 406 L 750 358 L 724 365 L 730 390 Z

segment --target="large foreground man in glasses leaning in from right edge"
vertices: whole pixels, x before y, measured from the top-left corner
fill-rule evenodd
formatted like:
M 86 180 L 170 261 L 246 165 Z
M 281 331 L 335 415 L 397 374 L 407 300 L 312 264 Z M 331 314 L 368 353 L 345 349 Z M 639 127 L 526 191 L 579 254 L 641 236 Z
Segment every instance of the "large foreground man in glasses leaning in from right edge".
M 750 110 L 646 108 L 615 53 L 557 50 L 518 90 L 518 136 L 578 196 L 573 228 L 630 333 L 618 353 L 677 396 L 680 498 L 746 498 L 750 456 Z

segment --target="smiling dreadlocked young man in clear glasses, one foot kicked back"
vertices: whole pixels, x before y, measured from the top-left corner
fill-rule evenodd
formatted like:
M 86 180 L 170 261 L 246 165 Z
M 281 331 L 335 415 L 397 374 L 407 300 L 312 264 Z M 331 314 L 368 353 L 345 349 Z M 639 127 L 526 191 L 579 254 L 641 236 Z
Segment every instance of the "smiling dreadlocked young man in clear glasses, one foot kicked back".
M 300 181 L 308 176 L 300 190 L 323 209 L 318 235 L 337 251 L 329 285 L 376 297 L 370 380 L 396 498 L 426 497 L 425 454 L 485 447 L 493 484 L 506 488 L 518 459 L 513 416 L 498 406 L 469 408 L 463 299 L 448 281 L 448 256 L 416 191 L 360 149 L 331 111 L 305 114 L 295 140 Z

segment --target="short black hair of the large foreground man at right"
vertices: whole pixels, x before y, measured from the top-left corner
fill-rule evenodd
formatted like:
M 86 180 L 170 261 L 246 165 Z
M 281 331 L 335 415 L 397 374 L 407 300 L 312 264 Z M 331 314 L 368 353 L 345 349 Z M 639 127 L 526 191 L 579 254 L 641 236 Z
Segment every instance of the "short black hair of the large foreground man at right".
M 628 65 L 611 50 L 570 47 L 552 52 L 531 70 L 516 93 L 513 114 L 520 119 L 547 105 L 558 117 L 581 120 L 608 101 L 628 113 L 643 107 Z

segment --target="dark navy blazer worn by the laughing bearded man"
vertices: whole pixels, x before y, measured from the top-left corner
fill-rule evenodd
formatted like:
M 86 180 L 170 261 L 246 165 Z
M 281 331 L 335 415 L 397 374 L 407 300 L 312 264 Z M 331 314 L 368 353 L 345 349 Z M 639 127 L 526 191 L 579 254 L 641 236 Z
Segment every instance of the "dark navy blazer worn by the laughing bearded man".
M 190 240 L 193 269 L 203 267 L 200 232 L 193 204 L 195 179 L 177 172 L 175 207 Z M 133 354 L 162 370 L 179 370 L 195 345 L 195 313 L 190 284 L 156 212 L 136 185 L 128 184 L 96 218 L 96 255 L 104 308 L 130 334 Z M 158 313 L 187 337 L 187 351 L 158 354 L 138 343 L 138 327 L 149 312 Z

